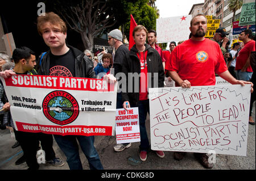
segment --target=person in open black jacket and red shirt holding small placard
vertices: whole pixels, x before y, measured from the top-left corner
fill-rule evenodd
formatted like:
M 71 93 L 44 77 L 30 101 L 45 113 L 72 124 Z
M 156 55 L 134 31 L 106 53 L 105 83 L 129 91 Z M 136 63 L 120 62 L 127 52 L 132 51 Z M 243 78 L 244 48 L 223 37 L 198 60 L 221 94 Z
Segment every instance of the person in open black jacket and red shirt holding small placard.
M 147 29 L 144 26 L 138 25 L 134 28 L 133 39 L 135 45 L 129 53 L 126 53 L 122 66 L 122 71 L 127 78 L 128 74 L 131 73 L 135 76 L 138 75 L 126 79 L 126 90 L 122 89 L 122 98 L 123 108 L 138 107 L 139 110 L 139 131 L 141 134 L 139 158 L 142 161 L 146 161 L 147 152 L 150 149 L 145 126 L 147 113 L 149 113 L 148 88 L 164 86 L 164 70 L 161 57 L 154 48 L 146 44 L 146 37 Z M 157 73 L 157 77 L 152 75 L 154 73 Z M 154 82 L 154 79 L 158 81 Z M 150 82 L 151 85 L 149 85 Z M 128 91 L 131 86 L 132 91 Z M 160 158 L 164 157 L 163 151 L 155 151 L 155 153 Z

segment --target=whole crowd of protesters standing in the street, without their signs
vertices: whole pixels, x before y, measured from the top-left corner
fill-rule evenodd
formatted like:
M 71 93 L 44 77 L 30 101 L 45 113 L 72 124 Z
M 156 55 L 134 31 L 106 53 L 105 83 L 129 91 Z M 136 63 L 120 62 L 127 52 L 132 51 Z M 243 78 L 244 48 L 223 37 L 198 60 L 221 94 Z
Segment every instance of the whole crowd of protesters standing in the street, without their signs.
M 89 50 L 84 53 L 77 48 L 66 44 L 67 27 L 65 22 L 55 13 L 48 12 L 44 16 L 38 17 L 38 32 L 43 37 L 44 43 L 49 47 L 46 53 L 42 53 L 35 61 L 35 53 L 26 47 L 16 48 L 13 52 L 14 64 L 7 68 L 10 70 L 1 71 L 2 77 L 9 77 L 14 74 L 38 74 L 55 75 L 52 69 L 60 66 L 67 69 L 70 77 L 84 78 L 102 78 L 106 77 L 112 81 L 120 81 L 115 75 L 119 72 L 128 75 L 128 73 L 140 74 L 139 91 L 123 91 L 117 94 L 116 108 L 138 107 L 139 110 L 139 128 L 141 134 L 141 145 L 139 146 L 139 158 L 146 161 L 148 151 L 150 150 L 150 141 L 148 141 L 146 130 L 146 117 L 149 114 L 150 105 L 148 99 L 148 87 L 164 87 L 164 78 L 168 77 L 175 81 L 176 86 L 184 89 L 191 86 L 215 85 L 215 76 L 218 74 L 221 78 L 232 84 L 251 84 L 255 88 L 255 37 L 250 30 L 245 30 L 239 35 L 243 45 L 233 44 L 232 50 L 229 50 L 230 44 L 226 37 L 225 28 L 218 28 L 212 40 L 206 39 L 207 18 L 202 15 L 196 15 L 191 20 L 191 26 L 188 27 L 191 36 L 188 40 L 182 40 L 176 44 L 170 43 L 170 50 L 164 50 L 157 44 L 157 35 L 155 30 L 147 30 L 144 26 L 138 25 L 133 30 L 134 46 L 129 50 L 123 44 L 123 35 L 121 31 L 115 29 L 108 34 L 108 43 L 114 48 L 114 53 L 103 53 L 102 62 L 94 56 Z M 148 44 L 147 44 L 147 43 Z M 243 46 L 243 47 L 242 47 Z M 199 51 L 208 52 L 208 61 L 199 63 L 195 54 Z M 182 61 L 181 61 L 182 57 Z M 0 68 L 11 62 L 11 58 L 0 54 Z M 195 65 L 197 63 L 197 65 Z M 132 65 L 132 66 L 131 66 Z M 35 70 L 35 69 L 36 70 Z M 85 71 L 79 71 L 79 69 Z M 110 69 L 114 68 L 114 75 Z M 158 82 L 154 85 L 148 85 L 147 73 L 157 73 Z M 98 75 L 98 77 L 97 77 Z M 67 75 L 68 76 L 68 75 Z M 151 77 L 151 83 L 154 82 Z M 254 85 L 251 82 L 254 83 Z M 136 81 L 133 80 L 133 86 Z M 126 81 L 126 89 L 129 85 Z M 255 91 L 251 88 L 251 104 L 249 123 L 254 125 L 251 111 L 255 101 Z M 10 104 L 6 99 L 2 84 L 0 109 L 1 115 L 9 116 L 7 121 L 1 122 L 1 128 L 5 126 L 14 130 L 17 142 L 14 148 L 20 145 L 24 155 L 22 161 L 26 162 L 29 169 L 39 169 L 36 163 L 36 151 L 39 148 L 39 141 L 42 149 L 46 151 L 46 160 L 48 164 L 54 166 L 63 166 L 64 162 L 55 157 L 52 149 L 52 135 L 43 133 L 26 133 L 15 131 L 13 121 L 10 115 Z M 69 169 L 82 169 L 82 163 L 79 156 L 79 145 L 89 162 L 90 169 L 101 170 L 104 167 L 101 164 L 100 157 L 94 147 L 94 136 L 60 136 L 53 135 L 57 145 L 67 157 Z M 77 141 L 79 144 L 77 144 Z M 118 144 L 113 148 L 115 151 L 122 151 L 131 146 L 131 143 Z M 164 158 L 163 151 L 155 151 L 159 158 Z M 181 160 L 185 152 L 175 152 L 174 159 Z M 195 153 L 195 157 L 205 168 L 211 169 L 212 163 L 208 162 L 208 155 Z M 114 159 L 114 158 L 113 158 Z M 166 159 L 166 158 L 165 158 Z

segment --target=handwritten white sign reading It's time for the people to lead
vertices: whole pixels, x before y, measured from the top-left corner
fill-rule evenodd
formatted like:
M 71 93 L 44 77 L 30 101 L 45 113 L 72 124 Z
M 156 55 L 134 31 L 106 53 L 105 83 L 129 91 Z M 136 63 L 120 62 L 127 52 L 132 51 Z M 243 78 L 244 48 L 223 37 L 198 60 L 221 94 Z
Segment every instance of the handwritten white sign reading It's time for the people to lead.
M 151 149 L 246 155 L 250 85 L 150 89 Z

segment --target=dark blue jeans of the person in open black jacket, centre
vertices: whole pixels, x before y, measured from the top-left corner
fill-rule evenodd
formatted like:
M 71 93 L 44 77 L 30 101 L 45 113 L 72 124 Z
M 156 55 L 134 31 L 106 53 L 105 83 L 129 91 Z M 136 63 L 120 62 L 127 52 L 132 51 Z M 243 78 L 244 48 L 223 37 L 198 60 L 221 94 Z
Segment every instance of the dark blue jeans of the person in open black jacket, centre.
M 139 131 L 141 132 L 141 145 L 139 146 L 141 151 L 148 151 L 150 149 L 150 144 L 147 138 L 146 131 L 146 119 L 147 113 L 149 113 L 149 100 L 139 100 L 138 102 L 138 110 L 139 110 Z

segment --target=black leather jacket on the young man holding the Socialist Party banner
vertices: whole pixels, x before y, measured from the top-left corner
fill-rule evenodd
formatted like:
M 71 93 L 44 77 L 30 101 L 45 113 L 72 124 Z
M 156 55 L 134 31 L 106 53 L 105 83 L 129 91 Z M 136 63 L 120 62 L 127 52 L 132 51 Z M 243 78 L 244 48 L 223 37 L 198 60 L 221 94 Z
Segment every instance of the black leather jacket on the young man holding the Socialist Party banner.
M 96 78 L 95 72 L 93 70 L 92 61 L 89 60 L 87 56 L 85 56 L 84 53 L 82 53 L 79 49 L 76 49 L 74 47 L 68 46 L 72 50 L 72 53 L 75 57 L 75 77 L 84 77 L 84 78 Z M 49 75 L 49 62 L 50 62 L 50 56 L 49 51 L 44 54 L 43 59 L 40 63 L 40 58 L 37 62 L 38 66 L 38 74 L 39 75 Z

